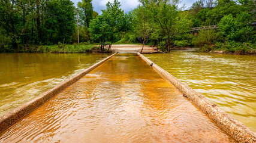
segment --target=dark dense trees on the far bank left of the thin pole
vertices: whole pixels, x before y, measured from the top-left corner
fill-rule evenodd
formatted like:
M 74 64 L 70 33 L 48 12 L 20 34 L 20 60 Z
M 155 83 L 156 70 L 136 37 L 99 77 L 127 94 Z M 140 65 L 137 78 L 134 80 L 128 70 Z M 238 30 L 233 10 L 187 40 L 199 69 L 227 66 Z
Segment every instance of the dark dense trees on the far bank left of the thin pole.
M 71 41 L 74 5 L 70 0 L 0 0 L 1 35 L 14 50 L 47 43 Z

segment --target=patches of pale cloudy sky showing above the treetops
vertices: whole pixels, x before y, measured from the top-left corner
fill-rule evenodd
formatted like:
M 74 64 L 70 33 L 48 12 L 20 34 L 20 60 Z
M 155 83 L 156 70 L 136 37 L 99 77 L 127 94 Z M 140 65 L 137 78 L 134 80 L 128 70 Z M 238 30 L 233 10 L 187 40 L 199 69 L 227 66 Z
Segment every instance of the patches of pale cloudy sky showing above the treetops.
M 77 5 L 77 2 L 82 0 L 71 0 L 74 2 L 75 5 Z M 92 5 L 94 7 L 94 11 L 97 11 L 97 13 L 101 14 L 101 10 L 106 9 L 107 2 L 114 2 L 114 0 L 92 0 Z M 138 5 L 138 0 L 119 0 L 121 1 L 121 8 L 125 11 L 125 13 L 128 13 L 128 11 L 131 11 Z M 185 4 L 185 10 L 190 8 L 196 0 L 183 0 L 179 6 Z

